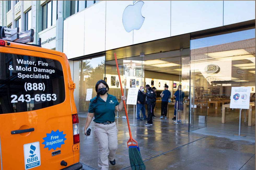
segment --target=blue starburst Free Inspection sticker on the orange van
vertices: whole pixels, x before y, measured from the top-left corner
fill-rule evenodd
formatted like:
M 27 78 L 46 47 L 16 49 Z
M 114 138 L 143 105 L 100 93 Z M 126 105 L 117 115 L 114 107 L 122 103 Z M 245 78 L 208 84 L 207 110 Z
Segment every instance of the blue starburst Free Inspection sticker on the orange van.
M 44 148 L 48 148 L 48 150 L 55 150 L 56 148 L 60 148 L 62 144 L 65 144 L 64 141 L 66 134 L 63 134 L 63 131 L 56 130 L 51 131 L 51 133 L 46 133 L 46 137 L 43 138 Z

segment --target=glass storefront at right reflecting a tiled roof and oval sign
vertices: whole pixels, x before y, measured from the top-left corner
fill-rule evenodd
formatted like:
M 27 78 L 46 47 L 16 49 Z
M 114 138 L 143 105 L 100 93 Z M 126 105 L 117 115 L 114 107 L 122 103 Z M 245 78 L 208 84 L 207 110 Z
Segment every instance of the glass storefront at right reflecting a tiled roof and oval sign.
M 239 111 L 227 108 L 232 87 L 250 86 L 248 97 L 255 100 L 255 29 L 193 37 L 190 70 L 190 131 L 206 126 L 217 133 L 237 130 Z M 255 106 L 254 102 L 250 105 Z M 242 122 L 246 131 L 254 123 L 248 110 Z

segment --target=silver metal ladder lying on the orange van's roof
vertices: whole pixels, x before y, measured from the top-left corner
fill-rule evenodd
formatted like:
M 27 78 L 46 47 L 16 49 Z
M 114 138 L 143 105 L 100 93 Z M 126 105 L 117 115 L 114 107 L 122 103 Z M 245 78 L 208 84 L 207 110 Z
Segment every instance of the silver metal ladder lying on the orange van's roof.
M 1 34 L 0 39 L 12 41 L 12 42 L 20 42 L 27 43 L 34 41 L 34 29 L 27 30 L 25 32 L 21 32 L 20 28 L 7 28 L 5 26 L 0 26 Z

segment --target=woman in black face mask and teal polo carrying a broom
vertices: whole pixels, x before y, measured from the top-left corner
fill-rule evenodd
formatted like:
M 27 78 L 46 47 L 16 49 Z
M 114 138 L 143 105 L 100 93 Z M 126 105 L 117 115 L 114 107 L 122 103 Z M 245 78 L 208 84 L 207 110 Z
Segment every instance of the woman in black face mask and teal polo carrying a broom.
M 107 93 L 108 84 L 99 80 L 95 85 L 97 96 L 90 100 L 88 116 L 86 118 L 84 134 L 94 117 L 94 136 L 98 142 L 98 166 L 101 170 L 108 169 L 108 160 L 115 165 L 115 152 L 117 150 L 117 126 L 115 124 L 115 111 L 124 107 L 125 96 L 121 96 L 119 103 L 115 96 Z

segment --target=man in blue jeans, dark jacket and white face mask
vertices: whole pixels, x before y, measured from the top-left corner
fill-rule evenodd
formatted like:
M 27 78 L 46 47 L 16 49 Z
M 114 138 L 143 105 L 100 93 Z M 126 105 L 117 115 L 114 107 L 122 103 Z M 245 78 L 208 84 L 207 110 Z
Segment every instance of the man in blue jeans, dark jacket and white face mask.
M 139 117 L 140 112 L 142 111 L 143 119 L 146 119 L 146 109 L 145 109 L 145 97 L 144 87 L 141 86 L 138 91 L 137 96 L 137 120 L 142 121 L 142 118 Z

